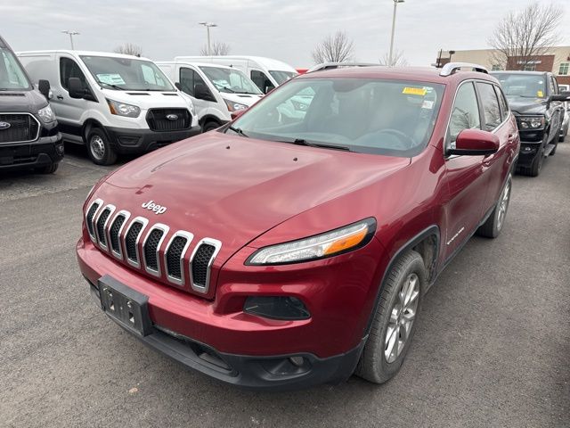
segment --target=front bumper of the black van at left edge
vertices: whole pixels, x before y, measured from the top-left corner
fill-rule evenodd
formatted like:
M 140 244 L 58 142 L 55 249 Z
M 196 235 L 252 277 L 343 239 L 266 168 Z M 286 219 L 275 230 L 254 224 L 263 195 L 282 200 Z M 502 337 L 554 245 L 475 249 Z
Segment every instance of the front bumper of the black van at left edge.
M 60 133 L 32 143 L 0 144 L 0 170 L 43 168 L 58 163 L 63 155 Z

